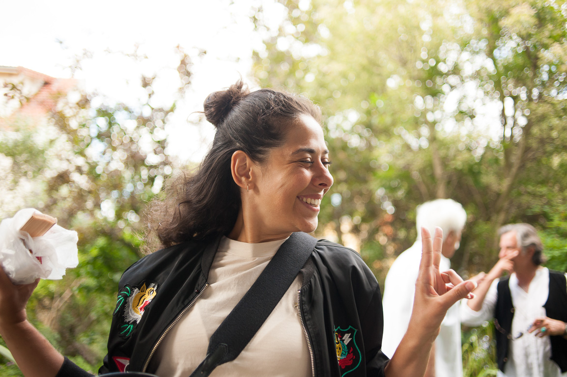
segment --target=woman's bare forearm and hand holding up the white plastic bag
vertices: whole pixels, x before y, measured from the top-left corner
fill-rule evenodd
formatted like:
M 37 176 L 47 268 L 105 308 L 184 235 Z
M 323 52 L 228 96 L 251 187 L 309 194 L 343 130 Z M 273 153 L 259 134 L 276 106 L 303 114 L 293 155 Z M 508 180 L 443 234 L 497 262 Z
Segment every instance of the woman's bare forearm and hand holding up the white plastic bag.
M 0 268 L 0 335 L 26 377 L 54 377 L 64 357 L 27 320 L 26 305 L 39 279 L 14 285 Z

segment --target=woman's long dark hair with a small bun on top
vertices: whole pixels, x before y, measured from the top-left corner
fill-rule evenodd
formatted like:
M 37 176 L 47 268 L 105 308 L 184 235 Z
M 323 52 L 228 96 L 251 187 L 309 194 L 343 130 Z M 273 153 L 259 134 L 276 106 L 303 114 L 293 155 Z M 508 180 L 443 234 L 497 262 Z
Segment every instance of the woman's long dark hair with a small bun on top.
M 270 149 L 285 143 L 286 131 L 301 115 L 321 121 L 321 110 L 307 98 L 273 89 L 250 92 L 242 80 L 211 93 L 204 113 L 217 128 L 213 145 L 194 174 L 173 178 L 166 198 L 150 203 L 148 247 L 152 238 L 168 247 L 230 233 L 241 205 L 230 170 L 232 154 L 246 152 L 261 164 Z

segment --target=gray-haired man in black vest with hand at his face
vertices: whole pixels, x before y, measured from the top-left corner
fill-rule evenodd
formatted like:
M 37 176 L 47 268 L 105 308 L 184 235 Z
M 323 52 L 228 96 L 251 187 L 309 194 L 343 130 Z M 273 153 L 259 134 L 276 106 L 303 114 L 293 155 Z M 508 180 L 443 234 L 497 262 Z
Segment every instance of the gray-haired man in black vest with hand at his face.
M 463 300 L 463 323 L 494 318 L 498 377 L 567 376 L 567 274 L 541 267 L 543 244 L 529 224 L 502 226 L 498 262 Z M 510 273 L 500 279 L 504 272 Z

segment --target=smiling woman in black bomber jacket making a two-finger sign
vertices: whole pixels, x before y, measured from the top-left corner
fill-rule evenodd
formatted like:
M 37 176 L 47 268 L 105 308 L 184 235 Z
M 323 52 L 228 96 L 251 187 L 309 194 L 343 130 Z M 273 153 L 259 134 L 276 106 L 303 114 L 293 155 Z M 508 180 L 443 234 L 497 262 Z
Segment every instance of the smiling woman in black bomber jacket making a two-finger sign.
M 171 182 L 166 198 L 151 205 L 150 230 L 164 249 L 122 276 L 99 373 L 423 375 L 447 309 L 473 288 L 452 271 L 439 272 L 440 231 L 434 240 L 422 234 L 411 336 L 388 360 L 370 269 L 353 250 L 306 234 L 316 229 L 333 185 L 319 108 L 272 89 L 249 92 L 242 82 L 211 94 L 204 108 L 217 128 L 213 145 L 194 174 Z M 306 258 L 283 284 L 282 271 L 303 249 Z M 264 271 L 272 275 L 266 279 Z M 13 286 L 0 271 L 0 333 L 16 362 L 27 377 L 89 376 L 27 322 L 35 284 Z M 247 299 L 258 290 L 259 300 Z M 246 320 L 230 332 L 242 338 L 253 331 L 233 358 L 217 359 L 219 350 L 231 350 L 215 346 L 217 329 L 239 308 Z

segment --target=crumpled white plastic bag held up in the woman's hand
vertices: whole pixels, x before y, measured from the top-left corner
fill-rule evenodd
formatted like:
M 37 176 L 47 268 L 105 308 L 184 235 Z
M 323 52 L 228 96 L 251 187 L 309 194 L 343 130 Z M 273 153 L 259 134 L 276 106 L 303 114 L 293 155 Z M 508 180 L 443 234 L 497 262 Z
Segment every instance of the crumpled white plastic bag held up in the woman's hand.
M 39 237 L 20 231 L 33 213 L 41 212 L 22 209 L 0 223 L 0 265 L 14 284 L 29 284 L 38 277 L 58 280 L 66 268 L 79 263 L 79 237 L 74 230 L 56 224 Z

